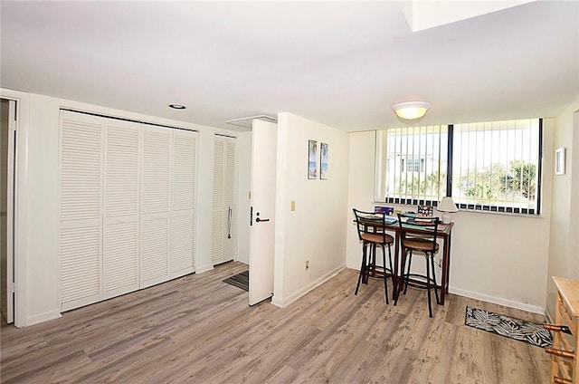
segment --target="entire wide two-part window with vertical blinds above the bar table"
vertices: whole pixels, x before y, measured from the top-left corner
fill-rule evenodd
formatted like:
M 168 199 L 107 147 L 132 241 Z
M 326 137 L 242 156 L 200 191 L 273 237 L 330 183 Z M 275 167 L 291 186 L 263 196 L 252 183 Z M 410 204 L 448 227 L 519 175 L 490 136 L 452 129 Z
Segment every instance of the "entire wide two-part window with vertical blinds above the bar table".
M 376 131 L 377 201 L 537 214 L 540 119 Z

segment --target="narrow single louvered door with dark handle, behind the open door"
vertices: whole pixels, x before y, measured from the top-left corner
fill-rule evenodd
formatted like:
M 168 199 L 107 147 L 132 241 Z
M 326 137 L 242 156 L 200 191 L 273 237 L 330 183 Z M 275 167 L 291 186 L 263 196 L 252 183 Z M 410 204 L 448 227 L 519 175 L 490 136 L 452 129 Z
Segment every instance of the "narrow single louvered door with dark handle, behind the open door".
M 233 260 L 236 251 L 237 168 L 234 138 L 215 136 L 214 142 L 214 264 Z

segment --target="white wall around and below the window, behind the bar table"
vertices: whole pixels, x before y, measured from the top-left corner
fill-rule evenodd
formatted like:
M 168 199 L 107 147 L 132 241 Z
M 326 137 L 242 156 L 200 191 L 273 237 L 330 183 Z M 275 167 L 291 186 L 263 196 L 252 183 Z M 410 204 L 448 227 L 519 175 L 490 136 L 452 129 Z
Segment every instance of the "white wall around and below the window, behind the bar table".
M 540 217 L 461 211 L 451 242 L 450 292 L 544 312 L 549 249 L 554 120 L 544 120 L 543 213 Z M 350 133 L 348 212 L 373 210 L 375 132 Z M 398 206 L 415 210 L 415 206 Z M 348 216 L 346 265 L 359 269 L 361 247 Z

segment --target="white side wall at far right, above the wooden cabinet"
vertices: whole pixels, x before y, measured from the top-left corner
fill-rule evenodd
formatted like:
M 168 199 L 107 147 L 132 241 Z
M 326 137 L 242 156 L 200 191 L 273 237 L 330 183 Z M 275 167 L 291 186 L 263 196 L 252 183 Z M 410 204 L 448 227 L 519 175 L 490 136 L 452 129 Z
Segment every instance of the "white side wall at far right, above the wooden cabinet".
M 555 319 L 551 276 L 579 280 L 579 100 L 556 118 L 554 148 L 565 148 L 565 175 L 553 181 L 553 215 L 547 273 L 547 312 Z

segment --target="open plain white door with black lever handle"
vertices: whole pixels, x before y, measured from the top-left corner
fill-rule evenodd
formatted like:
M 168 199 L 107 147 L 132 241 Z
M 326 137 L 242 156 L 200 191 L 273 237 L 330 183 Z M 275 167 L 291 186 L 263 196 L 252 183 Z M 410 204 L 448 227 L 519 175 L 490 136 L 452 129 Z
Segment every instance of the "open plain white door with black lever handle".
M 277 137 L 277 124 L 253 120 L 250 305 L 273 295 Z

